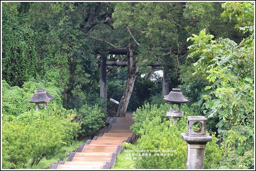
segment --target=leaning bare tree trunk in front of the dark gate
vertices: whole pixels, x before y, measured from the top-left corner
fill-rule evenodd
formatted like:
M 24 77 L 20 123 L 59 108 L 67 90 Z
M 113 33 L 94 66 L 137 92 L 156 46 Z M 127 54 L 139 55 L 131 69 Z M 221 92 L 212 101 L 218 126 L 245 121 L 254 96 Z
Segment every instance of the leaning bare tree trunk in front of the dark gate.
M 125 112 L 128 107 L 129 100 L 131 98 L 133 92 L 133 86 L 135 79 L 139 73 L 139 67 L 135 65 L 133 62 L 133 49 L 131 48 L 131 44 L 127 47 L 127 61 L 128 61 L 128 71 L 127 71 L 127 79 L 125 89 L 123 91 L 123 96 L 120 100 L 118 110 L 116 113 L 117 117 L 125 117 Z

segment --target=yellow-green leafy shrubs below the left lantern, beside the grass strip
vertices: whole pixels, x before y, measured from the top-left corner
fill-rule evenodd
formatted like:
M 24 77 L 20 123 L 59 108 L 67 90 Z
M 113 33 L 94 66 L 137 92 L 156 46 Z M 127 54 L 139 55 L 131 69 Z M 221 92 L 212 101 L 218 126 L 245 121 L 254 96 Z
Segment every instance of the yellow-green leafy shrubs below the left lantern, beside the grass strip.
M 61 146 L 70 144 L 79 125 L 71 122 L 74 115 L 52 115 L 45 111 L 31 111 L 25 119 L 8 121 L 3 117 L 3 168 L 23 168 L 31 161 L 37 164 L 44 156 L 50 157 Z

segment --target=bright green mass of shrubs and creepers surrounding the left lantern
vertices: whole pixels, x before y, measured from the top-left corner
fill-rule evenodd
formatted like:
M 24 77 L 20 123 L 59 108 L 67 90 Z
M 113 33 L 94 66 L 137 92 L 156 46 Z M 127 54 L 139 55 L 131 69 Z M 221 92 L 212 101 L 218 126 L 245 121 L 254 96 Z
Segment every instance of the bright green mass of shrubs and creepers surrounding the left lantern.
M 79 124 L 72 121 L 76 111 L 62 107 L 60 90 L 51 82 L 27 81 L 23 89 L 10 87 L 6 81 L 2 85 L 3 168 L 33 166 L 71 143 L 79 130 Z M 46 110 L 35 112 L 28 100 L 37 88 L 46 88 L 54 98 Z

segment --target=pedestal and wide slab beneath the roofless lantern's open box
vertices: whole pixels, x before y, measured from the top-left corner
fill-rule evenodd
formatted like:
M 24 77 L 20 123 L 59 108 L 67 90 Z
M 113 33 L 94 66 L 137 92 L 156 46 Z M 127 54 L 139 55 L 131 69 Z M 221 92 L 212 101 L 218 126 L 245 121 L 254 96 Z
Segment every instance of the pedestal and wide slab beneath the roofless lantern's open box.
M 204 150 L 206 143 L 212 141 L 208 134 L 205 136 L 189 136 L 181 133 L 181 138 L 187 142 L 187 169 L 203 169 Z

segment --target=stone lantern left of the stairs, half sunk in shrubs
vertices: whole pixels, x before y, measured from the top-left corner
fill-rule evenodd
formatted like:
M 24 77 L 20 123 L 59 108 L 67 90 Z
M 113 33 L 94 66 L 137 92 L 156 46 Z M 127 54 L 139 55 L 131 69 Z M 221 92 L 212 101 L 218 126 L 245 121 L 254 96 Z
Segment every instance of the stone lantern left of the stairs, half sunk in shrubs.
M 44 109 L 47 107 L 47 102 L 51 101 L 53 99 L 54 95 L 48 94 L 47 91 L 44 91 L 44 89 L 37 89 L 34 93 L 33 97 L 28 100 L 30 103 L 35 103 L 35 110 L 39 110 L 39 104 L 44 105 Z

